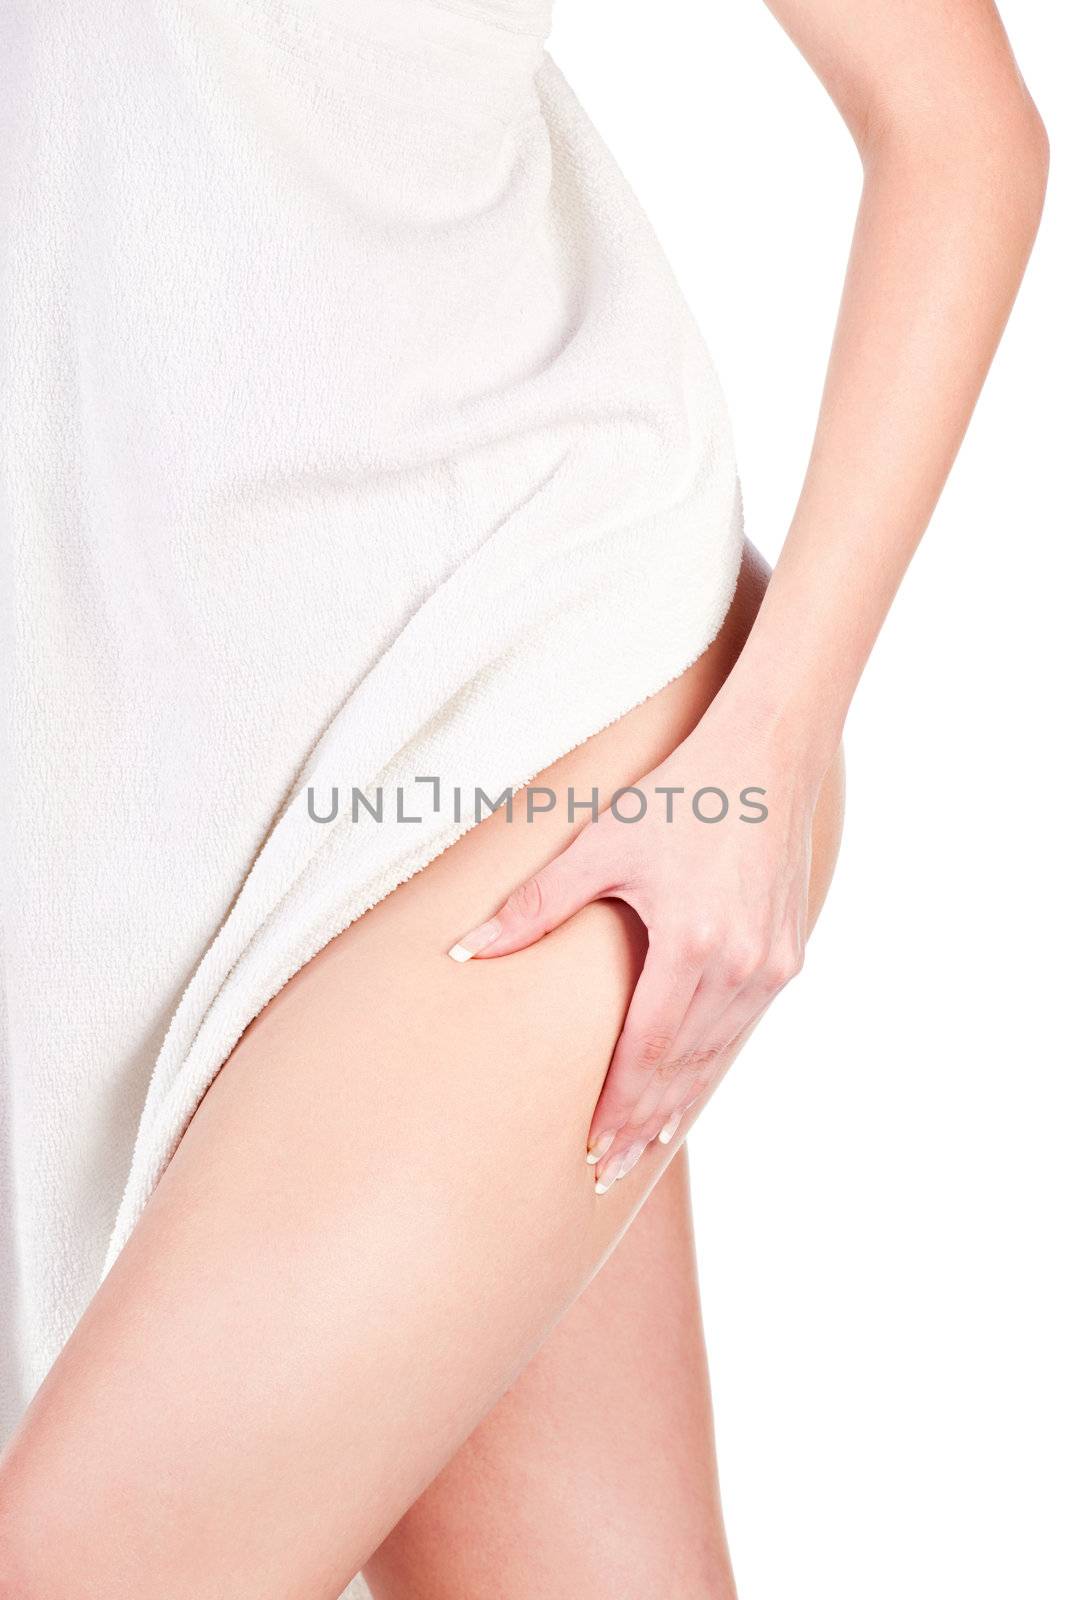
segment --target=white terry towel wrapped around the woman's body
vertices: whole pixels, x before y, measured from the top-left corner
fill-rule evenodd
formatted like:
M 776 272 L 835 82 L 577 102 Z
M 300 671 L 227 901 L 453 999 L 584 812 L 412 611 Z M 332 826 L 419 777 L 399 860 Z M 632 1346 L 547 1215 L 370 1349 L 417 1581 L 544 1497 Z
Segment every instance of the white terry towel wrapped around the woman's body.
M 256 1011 L 726 613 L 718 382 L 547 27 L 5 8 L 3 1432 Z

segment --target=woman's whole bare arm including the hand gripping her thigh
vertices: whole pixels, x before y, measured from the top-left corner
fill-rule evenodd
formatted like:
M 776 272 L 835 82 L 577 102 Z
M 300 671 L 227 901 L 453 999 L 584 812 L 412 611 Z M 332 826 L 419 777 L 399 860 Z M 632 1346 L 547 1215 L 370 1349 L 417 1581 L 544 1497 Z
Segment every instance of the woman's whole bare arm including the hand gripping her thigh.
M 771 0 L 771 10 L 821 74 L 864 165 L 785 544 L 726 685 L 640 786 L 645 819 L 601 814 L 451 952 L 507 955 L 605 896 L 645 922 L 645 970 L 590 1130 L 600 1190 L 656 1134 L 673 1136 L 678 1114 L 721 1075 L 733 1040 L 800 966 L 811 824 L 829 768 L 809 752 L 817 744 L 825 755 L 830 730 L 829 749 L 837 746 L 1045 198 L 1045 128 L 987 0 Z M 729 797 L 721 822 L 691 811 L 707 784 Z M 667 822 L 654 802 L 672 787 L 681 792 Z M 761 822 L 734 810 L 747 787 L 766 790 Z

